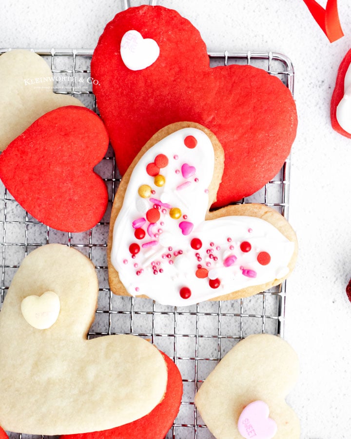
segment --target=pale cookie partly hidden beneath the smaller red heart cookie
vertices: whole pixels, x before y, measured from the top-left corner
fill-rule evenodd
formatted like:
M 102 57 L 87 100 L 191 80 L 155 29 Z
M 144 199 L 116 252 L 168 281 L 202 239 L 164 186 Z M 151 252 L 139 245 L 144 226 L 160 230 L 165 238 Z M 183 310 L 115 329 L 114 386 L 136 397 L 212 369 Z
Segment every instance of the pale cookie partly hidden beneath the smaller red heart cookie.
M 72 96 L 53 93 L 53 83 L 50 67 L 36 53 L 17 49 L 0 56 L 0 151 L 48 111 L 83 106 Z

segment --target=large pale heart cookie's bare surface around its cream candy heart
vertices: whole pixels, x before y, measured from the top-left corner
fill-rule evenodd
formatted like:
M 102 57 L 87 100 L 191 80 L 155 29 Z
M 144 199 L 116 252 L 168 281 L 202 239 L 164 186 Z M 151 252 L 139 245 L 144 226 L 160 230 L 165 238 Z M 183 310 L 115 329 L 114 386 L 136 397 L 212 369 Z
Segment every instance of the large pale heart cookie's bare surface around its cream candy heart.
M 20 304 L 45 291 L 54 291 L 61 306 L 56 323 L 40 330 L 28 325 Z M 23 260 L 0 313 L 4 429 L 107 430 L 147 415 L 162 400 L 167 366 L 155 346 L 132 335 L 87 340 L 97 299 L 95 267 L 78 250 L 48 244 Z

